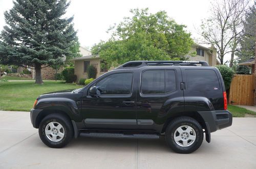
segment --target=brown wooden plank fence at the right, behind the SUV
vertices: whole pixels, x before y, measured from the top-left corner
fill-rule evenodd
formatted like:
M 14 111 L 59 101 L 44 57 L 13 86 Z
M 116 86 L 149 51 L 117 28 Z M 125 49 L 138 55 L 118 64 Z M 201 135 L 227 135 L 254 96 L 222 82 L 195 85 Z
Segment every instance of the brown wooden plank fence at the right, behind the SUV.
M 229 104 L 253 105 L 254 75 L 234 75 L 230 91 Z

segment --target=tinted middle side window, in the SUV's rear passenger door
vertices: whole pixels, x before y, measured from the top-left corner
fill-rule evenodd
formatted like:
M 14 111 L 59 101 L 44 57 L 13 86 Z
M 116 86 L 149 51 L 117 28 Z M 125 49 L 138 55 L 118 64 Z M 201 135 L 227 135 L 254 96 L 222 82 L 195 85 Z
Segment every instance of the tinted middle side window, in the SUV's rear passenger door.
M 146 70 L 142 73 L 142 94 L 164 94 L 174 90 L 176 90 L 174 70 Z

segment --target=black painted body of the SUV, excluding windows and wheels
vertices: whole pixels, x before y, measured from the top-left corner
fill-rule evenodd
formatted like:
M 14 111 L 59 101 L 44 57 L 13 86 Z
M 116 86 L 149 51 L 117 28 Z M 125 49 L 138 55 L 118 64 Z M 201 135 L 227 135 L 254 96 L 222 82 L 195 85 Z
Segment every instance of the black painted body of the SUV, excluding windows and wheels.
M 187 91 L 185 69 L 214 70 L 221 83 L 221 89 L 212 92 Z M 143 70 L 175 70 L 176 90 L 167 94 L 143 95 L 140 92 L 141 73 Z M 202 70 L 203 71 L 203 70 Z M 100 96 L 89 94 L 89 89 L 104 77 L 120 72 L 133 72 L 133 88 L 130 95 Z M 193 114 L 198 112 L 204 120 L 203 126 L 206 134 L 222 127 L 230 126 L 230 112 L 223 110 L 224 82 L 220 72 L 214 67 L 192 66 L 150 66 L 138 69 L 118 69 L 101 75 L 77 93 L 60 91 L 44 94 L 38 97 L 38 102 L 31 110 L 31 121 L 38 128 L 40 117 L 48 111 L 58 110 L 68 115 L 74 128 L 78 130 L 131 130 L 164 132 L 163 128 L 172 117 L 182 115 L 184 112 Z M 131 103 L 124 103 L 125 101 Z M 219 113 L 227 114 L 224 123 L 217 118 Z M 232 119 L 232 117 L 231 117 Z M 207 139 L 207 138 L 206 138 Z

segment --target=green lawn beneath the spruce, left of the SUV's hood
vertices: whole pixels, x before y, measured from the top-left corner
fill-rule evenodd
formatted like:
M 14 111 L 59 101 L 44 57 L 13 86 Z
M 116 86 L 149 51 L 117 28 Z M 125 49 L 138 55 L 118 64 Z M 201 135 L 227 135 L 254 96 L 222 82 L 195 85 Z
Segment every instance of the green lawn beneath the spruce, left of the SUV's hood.
M 30 111 L 40 94 L 81 87 L 61 81 L 45 81 L 44 85 L 34 81 L 0 81 L 0 110 Z

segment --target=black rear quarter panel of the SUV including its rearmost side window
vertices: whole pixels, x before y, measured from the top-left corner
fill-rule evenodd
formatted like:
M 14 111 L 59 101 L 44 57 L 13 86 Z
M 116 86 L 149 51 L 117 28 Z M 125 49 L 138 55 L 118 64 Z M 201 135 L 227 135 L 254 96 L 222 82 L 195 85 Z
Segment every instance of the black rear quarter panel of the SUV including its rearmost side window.
M 215 68 L 186 66 L 182 69 L 182 76 L 185 111 L 223 109 L 223 90 Z

